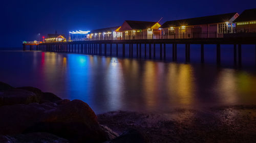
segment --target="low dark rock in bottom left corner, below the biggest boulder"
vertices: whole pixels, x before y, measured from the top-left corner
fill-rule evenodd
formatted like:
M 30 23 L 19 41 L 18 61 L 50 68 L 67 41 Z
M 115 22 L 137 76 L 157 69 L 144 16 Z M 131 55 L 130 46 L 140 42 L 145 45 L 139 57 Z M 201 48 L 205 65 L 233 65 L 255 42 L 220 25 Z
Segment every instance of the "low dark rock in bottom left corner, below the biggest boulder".
M 46 132 L 36 132 L 27 134 L 15 134 L 15 135 L 0 135 L 1 143 L 68 143 L 69 141 L 64 138 L 60 138 L 56 135 Z

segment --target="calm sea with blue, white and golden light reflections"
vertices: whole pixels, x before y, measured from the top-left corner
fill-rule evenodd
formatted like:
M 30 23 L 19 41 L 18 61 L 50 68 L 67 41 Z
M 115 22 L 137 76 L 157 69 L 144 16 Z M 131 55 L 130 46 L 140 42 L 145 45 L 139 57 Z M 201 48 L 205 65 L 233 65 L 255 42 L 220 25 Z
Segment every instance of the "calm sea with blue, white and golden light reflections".
M 255 104 L 254 49 L 243 55 L 251 56 L 243 59 L 243 63 L 250 61 L 249 70 L 230 68 L 232 56 L 223 53 L 222 63 L 231 64 L 217 67 L 214 56 L 208 58 L 211 52 L 206 63 L 208 58 L 213 64 L 201 65 L 71 53 L 0 51 L 0 80 L 14 87 L 33 86 L 61 98 L 83 100 L 96 113 Z M 192 63 L 200 60 L 197 54 L 191 54 Z

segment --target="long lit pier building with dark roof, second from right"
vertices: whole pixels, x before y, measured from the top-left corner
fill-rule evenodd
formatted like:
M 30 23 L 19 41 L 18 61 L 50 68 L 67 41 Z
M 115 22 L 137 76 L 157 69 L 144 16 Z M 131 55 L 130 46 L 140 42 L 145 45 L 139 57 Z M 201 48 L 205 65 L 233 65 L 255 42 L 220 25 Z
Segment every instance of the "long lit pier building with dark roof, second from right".
M 163 39 L 223 38 L 225 33 L 234 33 L 233 23 L 238 13 L 166 21 L 160 28 Z

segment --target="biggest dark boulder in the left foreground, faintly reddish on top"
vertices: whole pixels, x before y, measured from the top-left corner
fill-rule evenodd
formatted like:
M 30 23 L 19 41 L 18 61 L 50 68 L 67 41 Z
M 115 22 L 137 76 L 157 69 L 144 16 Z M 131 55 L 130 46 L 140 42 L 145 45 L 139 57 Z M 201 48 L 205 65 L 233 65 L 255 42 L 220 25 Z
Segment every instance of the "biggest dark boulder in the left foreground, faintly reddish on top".
M 71 142 L 103 142 L 108 135 L 90 106 L 80 100 L 0 107 L 0 134 L 49 132 Z

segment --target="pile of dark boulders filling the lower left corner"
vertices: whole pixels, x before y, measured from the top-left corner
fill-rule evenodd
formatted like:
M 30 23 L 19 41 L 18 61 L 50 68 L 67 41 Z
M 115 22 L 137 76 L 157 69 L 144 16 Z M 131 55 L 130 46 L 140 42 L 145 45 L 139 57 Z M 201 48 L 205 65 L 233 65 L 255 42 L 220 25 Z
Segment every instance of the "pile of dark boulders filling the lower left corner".
M 0 82 L 0 117 L 3 143 L 123 142 L 131 136 L 138 142 L 146 140 L 134 129 L 118 135 L 100 125 L 94 111 L 81 100 L 62 100 L 37 88 L 13 88 L 4 82 Z

